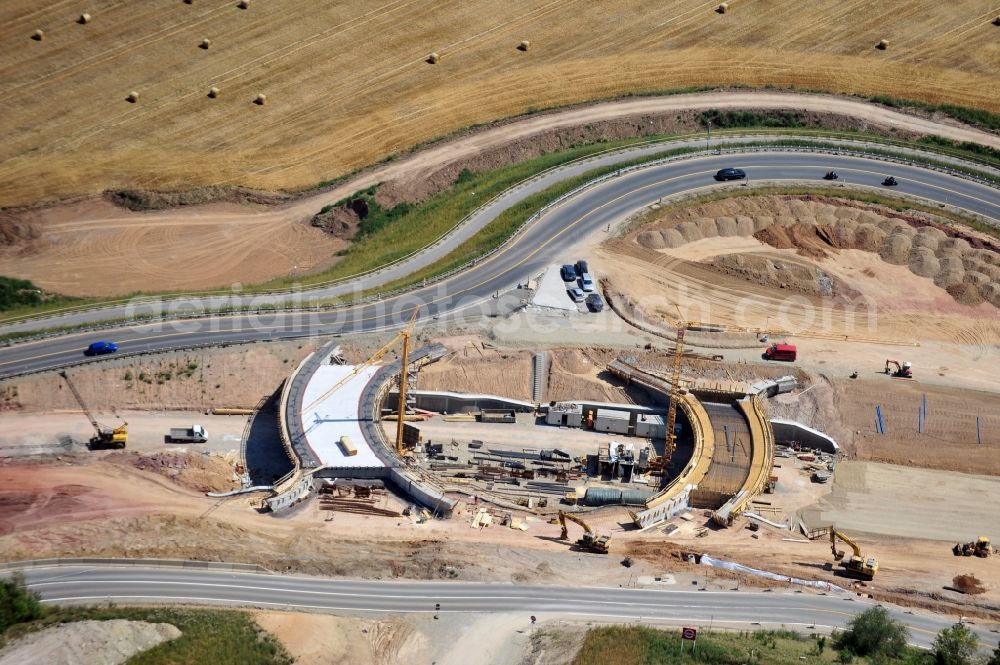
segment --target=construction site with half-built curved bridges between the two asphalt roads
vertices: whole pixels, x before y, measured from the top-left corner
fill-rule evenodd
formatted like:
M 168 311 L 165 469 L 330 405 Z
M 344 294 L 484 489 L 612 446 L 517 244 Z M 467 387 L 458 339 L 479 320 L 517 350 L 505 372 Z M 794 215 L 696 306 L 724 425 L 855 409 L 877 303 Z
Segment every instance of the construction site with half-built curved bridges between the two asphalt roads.
M 1000 488 L 992 282 L 971 302 L 912 263 L 839 244 L 835 220 L 859 210 L 914 245 L 936 228 L 833 199 L 654 208 L 571 248 L 599 283 L 598 312 L 567 298 L 554 265 L 527 276 L 509 325 L 411 322 L 263 355 L 187 352 L 159 368 L 112 359 L 5 381 L 3 556 L 547 582 L 573 556 L 594 583 L 614 583 L 694 574 L 710 553 L 741 566 L 713 574 L 749 585 L 861 585 L 996 618 L 1000 558 L 980 541 L 997 538 L 989 498 Z M 762 230 L 702 232 L 685 254 L 653 238 L 702 220 L 721 229 L 726 216 Z M 820 220 L 833 230 L 810 231 Z M 967 271 L 992 275 L 1000 255 L 988 238 L 947 237 Z M 780 322 L 766 314 L 780 311 L 776 288 L 801 298 Z M 871 294 L 877 317 L 848 329 L 838 296 L 857 293 Z M 831 327 L 804 324 L 801 303 Z M 244 372 L 267 392 L 225 387 Z M 153 420 L 150 402 L 176 415 Z M 74 406 L 96 412 L 89 440 Z M 167 421 L 186 426 L 151 426 Z M 144 502 L 125 479 L 146 488 Z M 977 581 L 972 591 L 960 576 Z

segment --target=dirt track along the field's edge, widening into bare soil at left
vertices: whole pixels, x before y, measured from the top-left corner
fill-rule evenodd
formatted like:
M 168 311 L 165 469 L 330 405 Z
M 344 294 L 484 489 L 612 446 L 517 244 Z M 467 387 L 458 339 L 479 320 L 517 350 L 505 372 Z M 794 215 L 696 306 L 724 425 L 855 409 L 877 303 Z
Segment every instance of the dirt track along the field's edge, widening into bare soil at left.
M 531 116 L 469 133 L 375 167 L 323 193 L 267 207 L 212 203 L 158 212 L 123 210 L 103 199 L 7 211 L 11 236 L 0 245 L 5 274 L 43 289 L 77 296 L 118 296 L 137 291 L 227 287 L 322 269 L 346 241 L 310 227 L 306 220 L 327 204 L 379 182 L 419 197 L 428 183 L 450 184 L 458 165 L 490 152 L 495 168 L 556 150 L 559 132 L 617 121 L 709 108 L 795 108 L 833 113 L 862 124 L 910 134 L 936 134 L 1000 147 L 1000 137 L 945 122 L 905 115 L 858 101 L 819 95 L 718 92 L 608 102 Z M 616 127 L 615 131 L 624 128 Z M 548 137 L 552 139 L 545 141 Z M 532 152 L 533 151 L 533 152 Z M 7 165 L 0 166 L 0 172 Z M 262 239 L 266 238 L 266 242 Z M 178 264 L 197 270 L 178 269 Z

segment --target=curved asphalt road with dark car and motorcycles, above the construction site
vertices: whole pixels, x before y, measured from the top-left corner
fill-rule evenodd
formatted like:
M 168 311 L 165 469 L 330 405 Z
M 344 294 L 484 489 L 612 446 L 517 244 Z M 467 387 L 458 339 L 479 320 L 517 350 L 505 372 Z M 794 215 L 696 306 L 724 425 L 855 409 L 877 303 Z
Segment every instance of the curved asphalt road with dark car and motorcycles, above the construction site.
M 327 312 L 280 312 L 263 315 L 215 316 L 158 322 L 94 333 L 71 334 L 14 344 L 0 351 L 0 378 L 53 369 L 81 359 L 94 339 L 118 342 L 122 352 L 159 351 L 199 344 L 290 339 L 312 335 L 358 333 L 399 326 L 413 307 L 422 318 L 481 316 L 518 306 L 512 294 L 492 296 L 536 276 L 552 263 L 571 262 L 561 247 L 604 228 L 659 197 L 721 186 L 712 179 L 718 169 L 736 166 L 755 181 L 816 180 L 829 169 L 842 182 L 878 187 L 891 172 L 900 180 L 894 188 L 1000 220 L 1000 192 L 987 185 L 913 166 L 877 160 L 801 152 L 761 152 L 710 155 L 640 169 L 592 187 L 550 210 L 508 247 L 437 284 L 378 303 Z

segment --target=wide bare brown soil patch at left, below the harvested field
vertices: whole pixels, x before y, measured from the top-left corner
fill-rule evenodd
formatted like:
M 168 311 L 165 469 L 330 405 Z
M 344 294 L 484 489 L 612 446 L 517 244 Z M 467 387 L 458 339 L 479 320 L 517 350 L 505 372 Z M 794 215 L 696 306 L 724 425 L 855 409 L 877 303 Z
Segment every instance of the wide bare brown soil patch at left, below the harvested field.
M 4 217 L 7 217 L 5 220 Z M 282 210 L 215 203 L 138 213 L 88 200 L 0 213 L 6 274 L 76 296 L 230 289 L 321 270 L 346 240 Z

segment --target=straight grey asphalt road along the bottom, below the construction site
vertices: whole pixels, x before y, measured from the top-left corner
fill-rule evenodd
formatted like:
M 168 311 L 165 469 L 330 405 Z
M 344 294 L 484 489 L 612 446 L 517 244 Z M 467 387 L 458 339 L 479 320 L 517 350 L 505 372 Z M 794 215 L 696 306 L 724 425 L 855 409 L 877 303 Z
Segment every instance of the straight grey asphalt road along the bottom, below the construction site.
M 601 587 L 516 586 L 464 582 L 380 582 L 176 568 L 64 566 L 27 569 L 28 585 L 45 602 L 225 603 L 333 614 L 523 612 L 587 620 L 635 619 L 720 628 L 786 626 L 803 631 L 843 628 L 873 601 L 814 591 L 690 591 Z M 954 617 L 887 606 L 911 641 L 929 646 Z M 984 645 L 1000 634 L 971 625 Z

